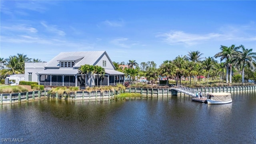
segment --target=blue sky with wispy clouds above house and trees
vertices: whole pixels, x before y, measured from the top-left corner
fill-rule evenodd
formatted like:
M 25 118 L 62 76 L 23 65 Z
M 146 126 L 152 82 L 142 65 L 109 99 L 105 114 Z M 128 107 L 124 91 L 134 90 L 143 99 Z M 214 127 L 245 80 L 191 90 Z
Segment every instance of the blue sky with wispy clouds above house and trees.
M 256 48 L 256 1 L 0 1 L 1 53 L 48 62 L 104 50 L 112 61 L 173 60 L 220 46 Z M 218 60 L 218 59 L 217 59 Z

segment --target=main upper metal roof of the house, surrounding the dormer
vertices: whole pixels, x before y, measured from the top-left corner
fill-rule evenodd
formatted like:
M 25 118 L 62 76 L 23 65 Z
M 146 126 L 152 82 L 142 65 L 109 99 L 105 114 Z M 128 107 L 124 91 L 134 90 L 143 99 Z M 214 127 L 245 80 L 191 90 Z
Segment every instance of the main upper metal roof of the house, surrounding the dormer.
M 58 60 L 63 59 L 69 59 L 68 57 L 84 57 L 82 60 L 80 60 L 76 65 L 73 67 L 80 67 L 84 64 L 94 65 L 99 58 L 101 58 L 104 54 L 106 54 L 105 51 L 90 51 L 90 52 L 61 52 L 57 56 L 55 56 L 52 60 L 47 62 L 47 65 L 45 67 L 58 67 L 59 62 Z M 106 54 L 108 56 L 108 54 Z

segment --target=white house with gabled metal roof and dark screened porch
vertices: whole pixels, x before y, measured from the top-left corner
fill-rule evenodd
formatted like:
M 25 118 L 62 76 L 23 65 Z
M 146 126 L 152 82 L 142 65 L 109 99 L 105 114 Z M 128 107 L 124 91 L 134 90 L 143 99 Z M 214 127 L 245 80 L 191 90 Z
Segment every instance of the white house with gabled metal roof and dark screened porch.
M 84 78 L 78 68 L 84 64 L 101 66 L 105 75 L 98 78 L 94 76 Z M 26 68 L 25 68 L 26 69 Z M 38 84 L 44 86 L 110 86 L 124 84 L 124 73 L 115 69 L 106 51 L 91 52 L 61 52 L 50 60 L 44 70 L 37 72 Z M 25 70 L 25 78 L 28 77 Z M 97 80 L 98 79 L 98 80 Z M 37 82 L 35 81 L 35 82 Z

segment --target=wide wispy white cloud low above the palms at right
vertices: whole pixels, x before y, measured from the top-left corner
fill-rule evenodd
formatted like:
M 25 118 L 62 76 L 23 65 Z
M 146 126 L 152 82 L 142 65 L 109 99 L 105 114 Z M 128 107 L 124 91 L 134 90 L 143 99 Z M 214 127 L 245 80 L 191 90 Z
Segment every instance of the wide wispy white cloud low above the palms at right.
M 162 38 L 162 40 L 170 45 L 185 45 L 192 46 L 196 44 L 202 44 L 207 41 L 255 41 L 256 30 L 253 26 L 222 26 L 218 32 L 212 32 L 207 34 L 192 34 L 183 31 L 172 30 L 166 33 L 159 33 L 156 38 Z

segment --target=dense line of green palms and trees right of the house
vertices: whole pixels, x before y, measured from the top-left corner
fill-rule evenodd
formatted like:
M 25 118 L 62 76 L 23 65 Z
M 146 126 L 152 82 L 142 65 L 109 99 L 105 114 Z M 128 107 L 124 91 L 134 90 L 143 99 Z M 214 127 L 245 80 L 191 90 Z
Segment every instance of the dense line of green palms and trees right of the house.
M 166 76 L 167 83 L 169 79 L 173 79 L 176 84 L 178 81 L 181 84 L 182 77 L 188 78 L 190 84 L 193 78 L 196 83 L 198 76 L 207 77 L 207 84 L 209 78 L 219 78 L 220 82 L 225 80 L 226 83 L 232 83 L 232 78 L 242 83 L 245 80 L 248 82 L 249 79 L 256 81 L 256 53 L 252 52 L 252 49 L 233 44 L 229 47 L 220 46 L 220 52 L 213 57 L 202 57 L 202 55 L 199 51 L 190 51 L 187 55 L 177 56 L 174 60 L 165 60 L 159 68 L 156 68 L 154 61 L 142 62 L 139 66 L 136 60 L 129 60 L 128 68 L 124 69 L 119 68 L 118 62 L 113 62 L 113 64 L 116 70 L 124 72 L 131 80 L 134 80 L 135 76 L 145 76 L 151 84 L 158 80 L 159 76 Z M 220 63 L 214 58 L 220 58 Z

